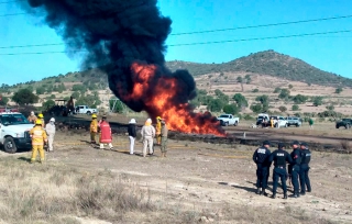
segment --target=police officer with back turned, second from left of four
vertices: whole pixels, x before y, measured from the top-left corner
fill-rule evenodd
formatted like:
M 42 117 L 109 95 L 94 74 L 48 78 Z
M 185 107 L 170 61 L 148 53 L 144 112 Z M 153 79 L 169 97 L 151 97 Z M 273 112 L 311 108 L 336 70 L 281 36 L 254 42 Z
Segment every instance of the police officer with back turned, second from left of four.
M 272 198 L 276 198 L 278 178 L 280 178 L 284 191 L 284 199 L 287 199 L 286 163 L 292 164 L 293 159 L 290 158 L 290 155 L 285 150 L 285 145 L 283 143 L 278 144 L 278 149 L 272 153 L 268 160 L 270 163 L 274 161 Z

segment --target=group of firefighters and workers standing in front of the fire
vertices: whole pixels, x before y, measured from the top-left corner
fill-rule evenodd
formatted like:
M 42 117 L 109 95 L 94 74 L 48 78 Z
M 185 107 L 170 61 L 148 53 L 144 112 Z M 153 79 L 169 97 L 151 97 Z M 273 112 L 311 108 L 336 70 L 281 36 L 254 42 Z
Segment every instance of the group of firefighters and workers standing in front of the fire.
M 97 144 L 96 135 L 100 130 L 99 144 L 100 149 L 103 149 L 105 144 L 108 144 L 110 149 L 113 149 L 112 146 L 112 133 L 107 116 L 103 115 L 102 120 L 97 121 L 97 115 L 91 115 L 90 123 L 90 143 Z M 143 142 L 143 157 L 146 157 L 146 152 L 148 149 L 148 155 L 154 154 L 154 137 L 157 139 L 157 144 L 161 145 L 162 157 L 166 157 L 166 145 L 167 145 L 167 125 L 165 121 L 161 117 L 156 117 L 156 128 L 152 125 L 152 120 L 147 119 L 145 124 L 141 130 L 142 142 Z M 128 126 L 129 141 L 130 141 L 130 154 L 134 154 L 134 145 L 136 138 L 136 121 L 131 119 Z

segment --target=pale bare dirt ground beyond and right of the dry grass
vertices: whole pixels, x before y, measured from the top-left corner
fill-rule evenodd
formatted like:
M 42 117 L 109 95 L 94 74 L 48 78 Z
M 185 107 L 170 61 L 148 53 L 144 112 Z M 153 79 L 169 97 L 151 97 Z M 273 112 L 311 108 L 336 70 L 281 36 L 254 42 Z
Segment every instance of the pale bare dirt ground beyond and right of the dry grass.
M 312 192 L 284 200 L 278 189 L 278 198 L 273 200 L 254 193 L 255 165 L 251 158 L 255 147 L 169 141 L 167 158 L 160 157 L 158 146 L 154 156 L 143 158 L 141 142 L 136 142 L 135 155 L 129 155 L 128 137 L 113 138 L 114 150 L 100 150 L 87 143 L 88 133 L 57 132 L 55 152 L 46 154 L 47 161 L 42 166 L 64 166 L 81 173 L 112 172 L 151 192 L 154 204 L 167 204 L 173 212 L 166 221 L 161 221 L 160 214 L 135 212 L 125 214 L 121 222 L 77 215 L 78 223 L 352 222 L 352 155 L 312 152 Z M 30 152 L 14 155 L 1 152 L 0 158 L 3 157 L 29 158 Z M 30 170 L 41 166 L 23 165 L 26 164 L 23 159 L 19 163 Z M 272 181 L 270 193 L 271 190 Z M 180 210 L 197 215 L 176 222 Z

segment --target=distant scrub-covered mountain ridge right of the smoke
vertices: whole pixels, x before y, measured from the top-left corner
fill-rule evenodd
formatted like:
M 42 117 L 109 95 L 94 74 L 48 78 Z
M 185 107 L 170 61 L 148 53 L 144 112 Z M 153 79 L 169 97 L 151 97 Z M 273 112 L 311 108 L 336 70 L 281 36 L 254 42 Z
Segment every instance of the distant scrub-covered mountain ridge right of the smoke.
M 222 64 L 198 64 L 182 60 L 167 61 L 172 69 L 187 69 L 193 76 L 211 72 L 244 71 L 280 77 L 293 81 L 304 81 L 323 86 L 352 87 L 352 79 L 323 71 L 301 59 L 274 51 L 258 52 Z

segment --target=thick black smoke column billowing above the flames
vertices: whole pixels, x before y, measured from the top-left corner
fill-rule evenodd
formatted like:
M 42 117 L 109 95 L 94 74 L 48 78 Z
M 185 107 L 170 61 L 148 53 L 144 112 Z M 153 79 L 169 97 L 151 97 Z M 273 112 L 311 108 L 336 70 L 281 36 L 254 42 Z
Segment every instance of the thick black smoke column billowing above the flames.
M 67 52 L 81 51 L 77 54 L 85 55 L 85 67 L 99 67 L 108 75 L 109 87 L 119 99 L 123 100 L 133 87 L 132 63 L 142 61 L 158 65 L 155 79 L 151 80 L 152 87 L 162 76 L 175 77 L 180 82 L 183 91 L 174 99 L 177 105 L 195 97 L 196 85 L 188 71 L 172 74 L 165 67 L 164 43 L 170 33 L 172 20 L 161 14 L 156 3 L 156 0 L 25 2 L 30 5 L 26 5 L 29 12 L 43 16 L 64 38 Z M 82 53 L 85 51 L 87 53 Z M 144 102 L 144 99 L 124 100 L 138 112 L 146 110 Z

